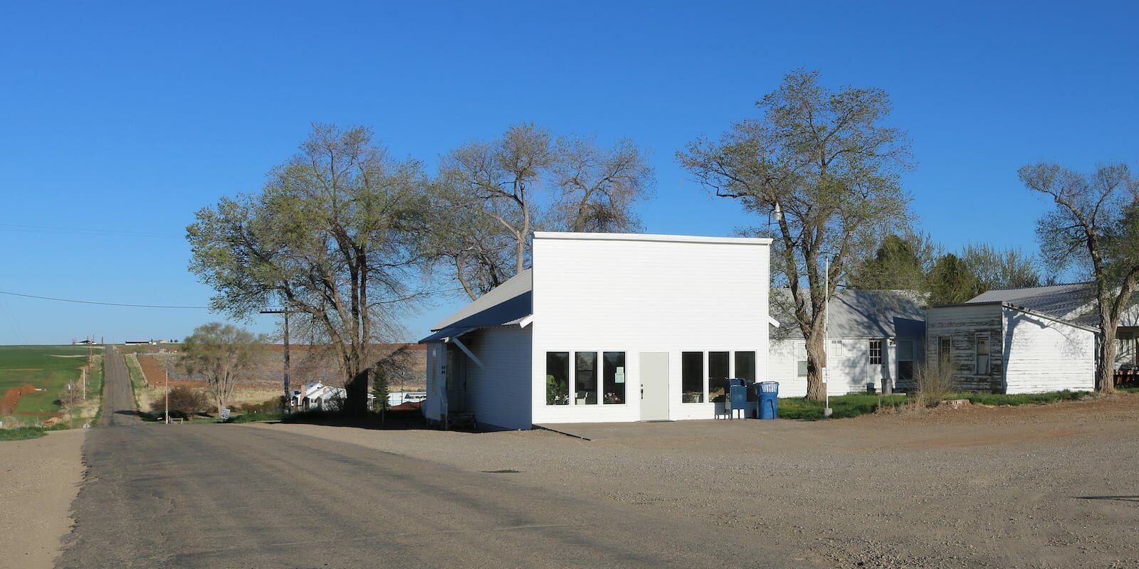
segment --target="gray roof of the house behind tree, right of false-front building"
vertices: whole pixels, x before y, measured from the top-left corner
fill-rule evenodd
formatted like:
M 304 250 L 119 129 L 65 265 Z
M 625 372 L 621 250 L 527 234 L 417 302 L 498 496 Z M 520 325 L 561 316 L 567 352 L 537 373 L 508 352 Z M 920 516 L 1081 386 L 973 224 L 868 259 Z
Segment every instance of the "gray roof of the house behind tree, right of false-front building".
M 798 336 L 790 289 L 771 292 L 771 315 L 780 329 Z M 830 338 L 918 337 L 925 335 L 925 311 L 918 294 L 909 290 L 841 290 L 830 299 L 827 332 Z

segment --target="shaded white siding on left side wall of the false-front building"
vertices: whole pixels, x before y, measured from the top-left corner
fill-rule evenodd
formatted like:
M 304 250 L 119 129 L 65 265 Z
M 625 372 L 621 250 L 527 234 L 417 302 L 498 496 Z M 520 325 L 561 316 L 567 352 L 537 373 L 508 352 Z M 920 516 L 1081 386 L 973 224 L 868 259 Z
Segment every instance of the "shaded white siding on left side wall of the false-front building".
M 517 325 L 476 330 L 462 338 L 483 363 L 466 364 L 467 411 L 480 426 L 528 429 L 531 419 L 530 329 Z

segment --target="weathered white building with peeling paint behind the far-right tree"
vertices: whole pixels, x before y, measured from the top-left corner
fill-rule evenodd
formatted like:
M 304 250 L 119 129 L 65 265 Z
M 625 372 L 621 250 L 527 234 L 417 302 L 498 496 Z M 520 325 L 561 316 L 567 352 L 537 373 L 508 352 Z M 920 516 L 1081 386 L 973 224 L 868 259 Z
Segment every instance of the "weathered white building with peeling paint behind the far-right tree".
M 1095 388 L 1099 333 L 1087 283 L 990 290 L 929 311 L 926 357 L 949 362 L 961 388 L 1044 393 Z M 1139 311 L 1124 313 L 1115 366 L 1134 369 Z

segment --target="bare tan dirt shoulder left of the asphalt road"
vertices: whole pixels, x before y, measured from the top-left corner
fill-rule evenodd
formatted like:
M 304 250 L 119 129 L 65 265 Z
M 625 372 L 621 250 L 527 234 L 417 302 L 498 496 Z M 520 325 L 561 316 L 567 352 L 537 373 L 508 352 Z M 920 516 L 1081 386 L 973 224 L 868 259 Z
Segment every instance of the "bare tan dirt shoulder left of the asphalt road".
M 87 430 L 0 443 L 0 569 L 50 568 L 72 526 Z

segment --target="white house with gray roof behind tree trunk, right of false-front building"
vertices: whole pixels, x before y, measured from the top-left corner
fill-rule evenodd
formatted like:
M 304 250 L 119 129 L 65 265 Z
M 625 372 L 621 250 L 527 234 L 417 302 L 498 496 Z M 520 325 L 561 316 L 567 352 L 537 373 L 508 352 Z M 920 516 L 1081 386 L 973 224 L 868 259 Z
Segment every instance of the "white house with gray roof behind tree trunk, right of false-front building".
M 771 313 L 769 376 L 780 397 L 806 395 L 806 343 L 790 315 L 790 290 L 776 289 Z M 903 290 L 841 290 L 830 299 L 827 323 L 827 393 L 845 395 L 912 388 L 923 360 L 925 311 L 917 294 Z

